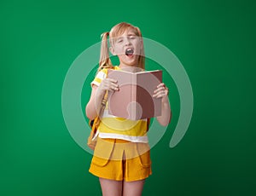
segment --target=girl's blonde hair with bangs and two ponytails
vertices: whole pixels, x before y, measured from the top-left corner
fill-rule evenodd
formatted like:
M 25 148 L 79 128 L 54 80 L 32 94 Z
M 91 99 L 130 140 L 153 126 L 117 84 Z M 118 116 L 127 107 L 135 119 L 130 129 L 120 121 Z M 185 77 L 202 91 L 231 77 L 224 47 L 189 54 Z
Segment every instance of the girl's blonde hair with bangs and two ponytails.
M 142 32 L 137 26 L 132 26 L 129 23 L 121 22 L 112 27 L 110 32 L 103 32 L 102 33 L 102 46 L 101 46 L 101 55 L 99 61 L 99 68 L 98 72 L 101 71 L 103 68 L 113 68 L 113 64 L 109 58 L 109 51 L 108 51 L 108 36 L 109 36 L 109 43 L 113 45 L 114 37 L 119 37 L 122 35 L 127 29 L 131 28 L 134 30 L 137 37 L 142 37 Z M 143 44 L 143 43 L 142 43 Z M 145 69 L 145 55 L 144 55 L 144 47 L 141 50 L 141 54 L 138 57 L 138 67 Z

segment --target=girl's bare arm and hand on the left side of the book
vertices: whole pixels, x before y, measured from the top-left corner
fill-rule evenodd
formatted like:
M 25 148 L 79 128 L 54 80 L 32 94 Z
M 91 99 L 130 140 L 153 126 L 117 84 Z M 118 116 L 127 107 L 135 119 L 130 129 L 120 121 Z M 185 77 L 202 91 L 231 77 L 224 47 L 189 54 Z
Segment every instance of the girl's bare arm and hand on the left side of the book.
M 111 78 L 105 78 L 102 80 L 102 83 L 98 87 L 96 85 L 93 85 L 90 94 L 90 101 L 85 107 L 85 113 L 87 118 L 96 118 L 100 108 L 102 107 L 102 100 L 107 90 L 119 90 L 117 81 Z

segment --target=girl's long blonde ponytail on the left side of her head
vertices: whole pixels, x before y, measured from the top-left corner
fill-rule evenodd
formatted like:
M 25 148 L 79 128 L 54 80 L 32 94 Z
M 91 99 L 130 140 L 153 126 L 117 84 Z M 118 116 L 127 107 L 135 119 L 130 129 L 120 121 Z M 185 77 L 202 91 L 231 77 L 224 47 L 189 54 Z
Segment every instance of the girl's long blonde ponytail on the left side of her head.
M 99 62 L 99 68 L 98 72 L 102 70 L 102 68 L 112 68 L 112 62 L 109 58 L 109 52 L 108 52 L 108 35 L 109 32 L 103 32 L 102 33 L 102 46 L 101 46 L 101 55 L 100 55 L 100 62 Z

